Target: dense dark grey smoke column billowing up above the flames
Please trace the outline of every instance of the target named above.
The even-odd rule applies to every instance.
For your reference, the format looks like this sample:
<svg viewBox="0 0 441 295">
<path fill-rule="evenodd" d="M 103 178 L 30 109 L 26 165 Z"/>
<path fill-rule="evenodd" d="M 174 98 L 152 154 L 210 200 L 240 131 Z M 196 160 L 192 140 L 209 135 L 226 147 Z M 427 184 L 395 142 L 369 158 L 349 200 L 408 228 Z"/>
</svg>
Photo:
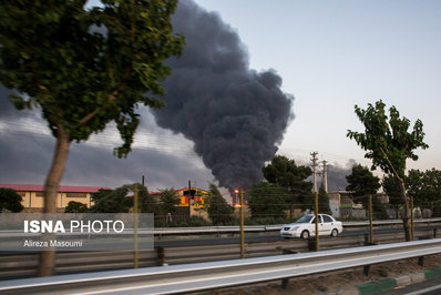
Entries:
<svg viewBox="0 0 441 295">
<path fill-rule="evenodd" d="M 216 13 L 181 1 L 173 23 L 186 47 L 170 61 L 157 124 L 192 140 L 219 185 L 248 189 L 263 180 L 261 167 L 293 119 L 294 98 L 274 71 L 248 68 L 237 33 Z"/>
</svg>

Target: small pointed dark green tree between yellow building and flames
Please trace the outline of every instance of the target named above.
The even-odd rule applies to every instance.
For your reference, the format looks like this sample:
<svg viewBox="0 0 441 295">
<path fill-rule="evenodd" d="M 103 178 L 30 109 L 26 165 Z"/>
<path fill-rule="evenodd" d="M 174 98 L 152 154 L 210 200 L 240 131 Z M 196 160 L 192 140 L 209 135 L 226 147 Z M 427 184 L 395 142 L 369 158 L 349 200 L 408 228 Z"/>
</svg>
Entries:
<svg viewBox="0 0 441 295">
<path fill-rule="evenodd" d="M 208 217 L 214 225 L 225 225 L 233 221 L 234 207 L 222 196 L 215 184 L 209 183 L 209 195 L 206 199 Z"/>
</svg>

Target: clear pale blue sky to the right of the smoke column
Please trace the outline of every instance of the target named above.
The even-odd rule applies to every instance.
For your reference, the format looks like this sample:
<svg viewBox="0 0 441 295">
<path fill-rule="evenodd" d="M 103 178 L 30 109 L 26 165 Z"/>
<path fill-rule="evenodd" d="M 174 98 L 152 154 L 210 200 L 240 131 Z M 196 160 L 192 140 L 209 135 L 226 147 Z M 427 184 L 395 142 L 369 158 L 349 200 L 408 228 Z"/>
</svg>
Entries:
<svg viewBox="0 0 441 295">
<path fill-rule="evenodd" d="M 237 30 L 250 68 L 273 68 L 296 98 L 279 153 L 369 164 L 346 138 L 353 105 L 382 99 L 424 124 L 430 149 L 409 167 L 441 169 L 441 1 L 197 0 Z"/>
</svg>

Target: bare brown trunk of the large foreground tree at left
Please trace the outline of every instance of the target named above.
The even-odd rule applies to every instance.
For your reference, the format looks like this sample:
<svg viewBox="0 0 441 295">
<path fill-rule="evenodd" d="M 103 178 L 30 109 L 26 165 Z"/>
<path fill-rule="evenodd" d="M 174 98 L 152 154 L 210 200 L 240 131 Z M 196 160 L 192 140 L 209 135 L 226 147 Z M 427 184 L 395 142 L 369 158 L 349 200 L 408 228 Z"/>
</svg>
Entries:
<svg viewBox="0 0 441 295">
<path fill-rule="evenodd" d="M 68 161 L 70 143 L 71 141 L 69 134 L 66 134 L 64 129 L 59 125 L 57 133 L 55 153 L 52 159 L 51 169 L 49 170 L 44 183 L 44 213 L 57 213 L 57 194 L 59 184 L 63 176 L 65 162 Z M 51 236 L 47 235 L 43 238 L 50 240 Z M 54 273 L 54 268 L 55 251 L 42 251 L 40 253 L 38 276 L 51 276 Z"/>
</svg>

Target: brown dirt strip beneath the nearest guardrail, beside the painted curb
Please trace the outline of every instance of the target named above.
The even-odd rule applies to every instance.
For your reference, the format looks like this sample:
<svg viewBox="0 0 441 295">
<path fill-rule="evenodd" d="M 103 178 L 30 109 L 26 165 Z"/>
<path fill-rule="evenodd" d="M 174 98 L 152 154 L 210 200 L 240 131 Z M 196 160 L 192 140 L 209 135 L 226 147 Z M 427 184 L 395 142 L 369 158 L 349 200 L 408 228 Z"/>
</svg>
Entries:
<svg viewBox="0 0 441 295">
<path fill-rule="evenodd" d="M 363 283 L 394 278 L 400 275 L 418 273 L 423 269 L 432 269 L 441 266 L 441 255 L 424 257 L 424 265 L 418 265 L 418 258 L 398 261 L 372 265 L 369 276 L 363 274 L 362 267 L 348 268 L 346 271 L 324 273 L 307 277 L 290 278 L 286 289 L 281 288 L 281 281 L 267 282 L 234 288 L 203 292 L 198 294 L 216 295 L 245 295 L 245 294 L 326 294 L 338 289 L 357 286 Z"/>
</svg>

